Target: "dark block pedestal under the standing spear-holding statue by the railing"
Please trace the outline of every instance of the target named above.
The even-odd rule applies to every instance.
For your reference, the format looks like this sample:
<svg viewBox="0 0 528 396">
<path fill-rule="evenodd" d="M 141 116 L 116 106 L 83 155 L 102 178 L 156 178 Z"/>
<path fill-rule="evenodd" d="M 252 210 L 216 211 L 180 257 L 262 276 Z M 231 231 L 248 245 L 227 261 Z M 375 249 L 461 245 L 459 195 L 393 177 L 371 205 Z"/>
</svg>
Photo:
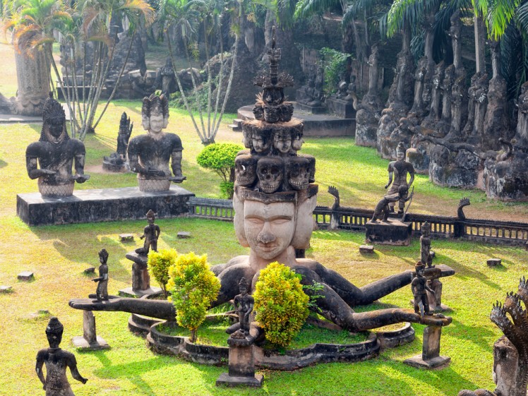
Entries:
<svg viewBox="0 0 528 396">
<path fill-rule="evenodd" d="M 378 220 L 366 223 L 366 242 L 368 244 L 408 246 L 411 241 L 412 224 L 399 219 Z"/>
</svg>

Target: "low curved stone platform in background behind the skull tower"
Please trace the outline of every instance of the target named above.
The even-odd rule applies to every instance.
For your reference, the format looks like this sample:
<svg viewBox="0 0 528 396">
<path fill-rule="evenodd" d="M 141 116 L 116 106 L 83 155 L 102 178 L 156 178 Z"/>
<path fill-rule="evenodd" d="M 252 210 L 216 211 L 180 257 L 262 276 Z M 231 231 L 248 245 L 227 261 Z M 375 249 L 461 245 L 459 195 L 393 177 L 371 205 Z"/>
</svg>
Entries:
<svg viewBox="0 0 528 396">
<path fill-rule="evenodd" d="M 356 119 L 342 119 L 330 114 L 310 114 L 302 112 L 294 103 L 294 118 L 301 119 L 304 124 L 304 136 L 355 136 Z M 255 119 L 253 106 L 241 107 L 237 118 Z"/>
</svg>

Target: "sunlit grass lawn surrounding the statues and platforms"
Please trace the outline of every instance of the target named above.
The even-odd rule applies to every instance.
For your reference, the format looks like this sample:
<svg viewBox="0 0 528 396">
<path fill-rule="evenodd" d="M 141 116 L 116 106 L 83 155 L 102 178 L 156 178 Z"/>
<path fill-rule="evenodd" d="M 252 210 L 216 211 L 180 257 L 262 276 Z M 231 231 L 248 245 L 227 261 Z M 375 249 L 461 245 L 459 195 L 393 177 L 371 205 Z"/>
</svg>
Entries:
<svg viewBox="0 0 528 396">
<path fill-rule="evenodd" d="M 12 51 L 11 48 L 8 48 Z M 4 75 L 0 91 L 13 95 L 13 67 L 9 54 L 0 44 L 4 60 Z M 12 56 L 11 56 L 12 57 Z M 6 80 L 4 76 L 11 76 Z M 5 90 L 4 90 L 5 89 Z M 97 133 L 88 136 L 87 173 L 92 178 L 76 188 L 109 188 L 135 186 L 133 174 L 103 174 L 102 157 L 116 148 L 116 135 L 121 112 L 126 111 L 134 122 L 134 136 L 140 128 L 140 102 L 116 101 L 109 107 Z M 220 142 L 241 140 L 227 124 L 226 116 L 217 137 Z M 220 178 L 196 164 L 202 149 L 184 112 L 171 110 L 168 131 L 176 132 L 184 143 L 184 188 L 197 196 L 217 198 Z M 28 227 L 16 216 L 16 194 L 37 191 L 36 181 L 25 171 L 25 148 L 40 133 L 39 125 L 0 125 L 3 144 L 0 146 L 0 284 L 13 286 L 10 294 L 0 294 L 2 323 L 0 337 L 4 340 L 0 376 L 0 395 L 42 395 L 35 374 L 37 350 L 47 347 L 44 334 L 49 316 L 58 316 L 64 323 L 62 347 L 76 352 L 69 342 L 83 332 L 80 311 L 68 307 L 68 300 L 95 292 L 95 284 L 83 270 L 97 266 L 97 252 L 109 251 L 109 292 L 131 284 L 131 262 L 125 254 L 140 245 L 140 241 L 121 244 L 118 234 L 138 234 L 145 221 L 70 224 L 54 227 Z M 356 148 L 351 138 L 307 138 L 303 150 L 317 158 L 316 179 L 320 184 L 318 203 L 331 205 L 328 185 L 340 189 L 342 205 L 373 207 L 383 195 L 388 161 L 377 157 L 374 150 Z M 528 204 L 504 204 L 488 200 L 481 191 L 461 191 L 440 188 L 425 176 L 416 178 L 416 196 L 412 211 L 454 215 L 457 201 L 469 196 L 472 205 L 468 217 L 500 218 L 528 221 Z M 246 254 L 236 241 L 229 222 L 193 218 L 159 220 L 162 234 L 159 248 L 176 248 L 180 253 L 208 253 L 211 264 L 224 263 L 229 258 Z M 191 232 L 191 239 L 177 239 L 179 231 Z M 373 255 L 359 253 L 364 234 L 317 231 L 311 239 L 307 256 L 318 260 L 346 277 L 357 286 L 381 277 L 413 268 L 419 258 L 419 243 L 410 246 L 376 246 Z M 263 388 L 258 390 L 215 387 L 215 380 L 226 367 L 203 366 L 152 353 L 145 340 L 127 330 L 127 313 L 95 313 L 97 333 L 112 349 L 100 352 L 76 352 L 78 368 L 89 378 L 82 385 L 71 380 L 77 396 L 154 396 L 154 395 L 369 395 L 369 396 L 452 396 L 461 389 L 493 390 L 491 368 L 493 342 L 501 335 L 489 320 L 491 304 L 503 301 L 505 292 L 516 290 L 519 277 L 528 275 L 528 253 L 522 248 L 474 244 L 468 241 L 433 240 L 435 263 L 450 265 L 456 275 L 443 280 L 443 303 L 453 308 L 452 325 L 443 330 L 441 354 L 452 363 L 441 371 L 423 371 L 403 364 L 404 359 L 421 352 L 424 326 L 414 325 L 416 340 L 411 344 L 382 352 L 376 359 L 356 364 L 320 364 L 294 372 L 261 371 L 265 375 Z M 487 258 L 502 258 L 503 265 L 488 268 Z M 35 281 L 16 280 L 23 270 L 35 272 Z M 402 306 L 410 308 L 410 287 L 405 287 L 368 308 Z M 363 308 L 359 307 L 357 310 Z M 38 314 L 47 310 L 49 314 Z M 37 313 L 37 315 L 34 315 Z M 319 336 L 316 336 L 319 337 Z M 69 377 L 69 374 L 68 374 Z M 71 378 L 71 377 L 70 377 Z"/>
</svg>

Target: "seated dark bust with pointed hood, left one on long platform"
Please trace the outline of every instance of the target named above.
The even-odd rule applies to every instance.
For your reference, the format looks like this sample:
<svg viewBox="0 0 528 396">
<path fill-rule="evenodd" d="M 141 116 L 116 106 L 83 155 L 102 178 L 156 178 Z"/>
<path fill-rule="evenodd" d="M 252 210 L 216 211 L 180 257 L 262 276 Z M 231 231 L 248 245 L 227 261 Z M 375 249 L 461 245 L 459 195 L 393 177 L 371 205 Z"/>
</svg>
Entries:
<svg viewBox="0 0 528 396">
<path fill-rule="evenodd" d="M 38 179 L 43 197 L 64 197 L 73 194 L 75 182 L 84 183 L 85 147 L 66 131 L 66 114 L 61 104 L 49 97 L 42 109 L 42 131 L 38 142 L 25 150 L 25 164 L 30 179 Z M 74 164 L 75 162 L 75 164 Z M 72 165 L 75 174 L 72 175 Z"/>
</svg>

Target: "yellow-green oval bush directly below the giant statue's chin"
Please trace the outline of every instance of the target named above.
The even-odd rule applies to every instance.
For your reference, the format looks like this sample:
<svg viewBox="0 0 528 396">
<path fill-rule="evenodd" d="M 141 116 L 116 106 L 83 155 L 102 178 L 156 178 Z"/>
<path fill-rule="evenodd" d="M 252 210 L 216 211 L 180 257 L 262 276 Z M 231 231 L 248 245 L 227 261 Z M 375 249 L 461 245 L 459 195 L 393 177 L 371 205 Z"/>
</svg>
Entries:
<svg viewBox="0 0 528 396">
<path fill-rule="evenodd" d="M 256 320 L 266 340 L 287 347 L 308 317 L 308 296 L 297 275 L 286 265 L 271 263 L 260 271 L 256 283 Z"/>
</svg>

